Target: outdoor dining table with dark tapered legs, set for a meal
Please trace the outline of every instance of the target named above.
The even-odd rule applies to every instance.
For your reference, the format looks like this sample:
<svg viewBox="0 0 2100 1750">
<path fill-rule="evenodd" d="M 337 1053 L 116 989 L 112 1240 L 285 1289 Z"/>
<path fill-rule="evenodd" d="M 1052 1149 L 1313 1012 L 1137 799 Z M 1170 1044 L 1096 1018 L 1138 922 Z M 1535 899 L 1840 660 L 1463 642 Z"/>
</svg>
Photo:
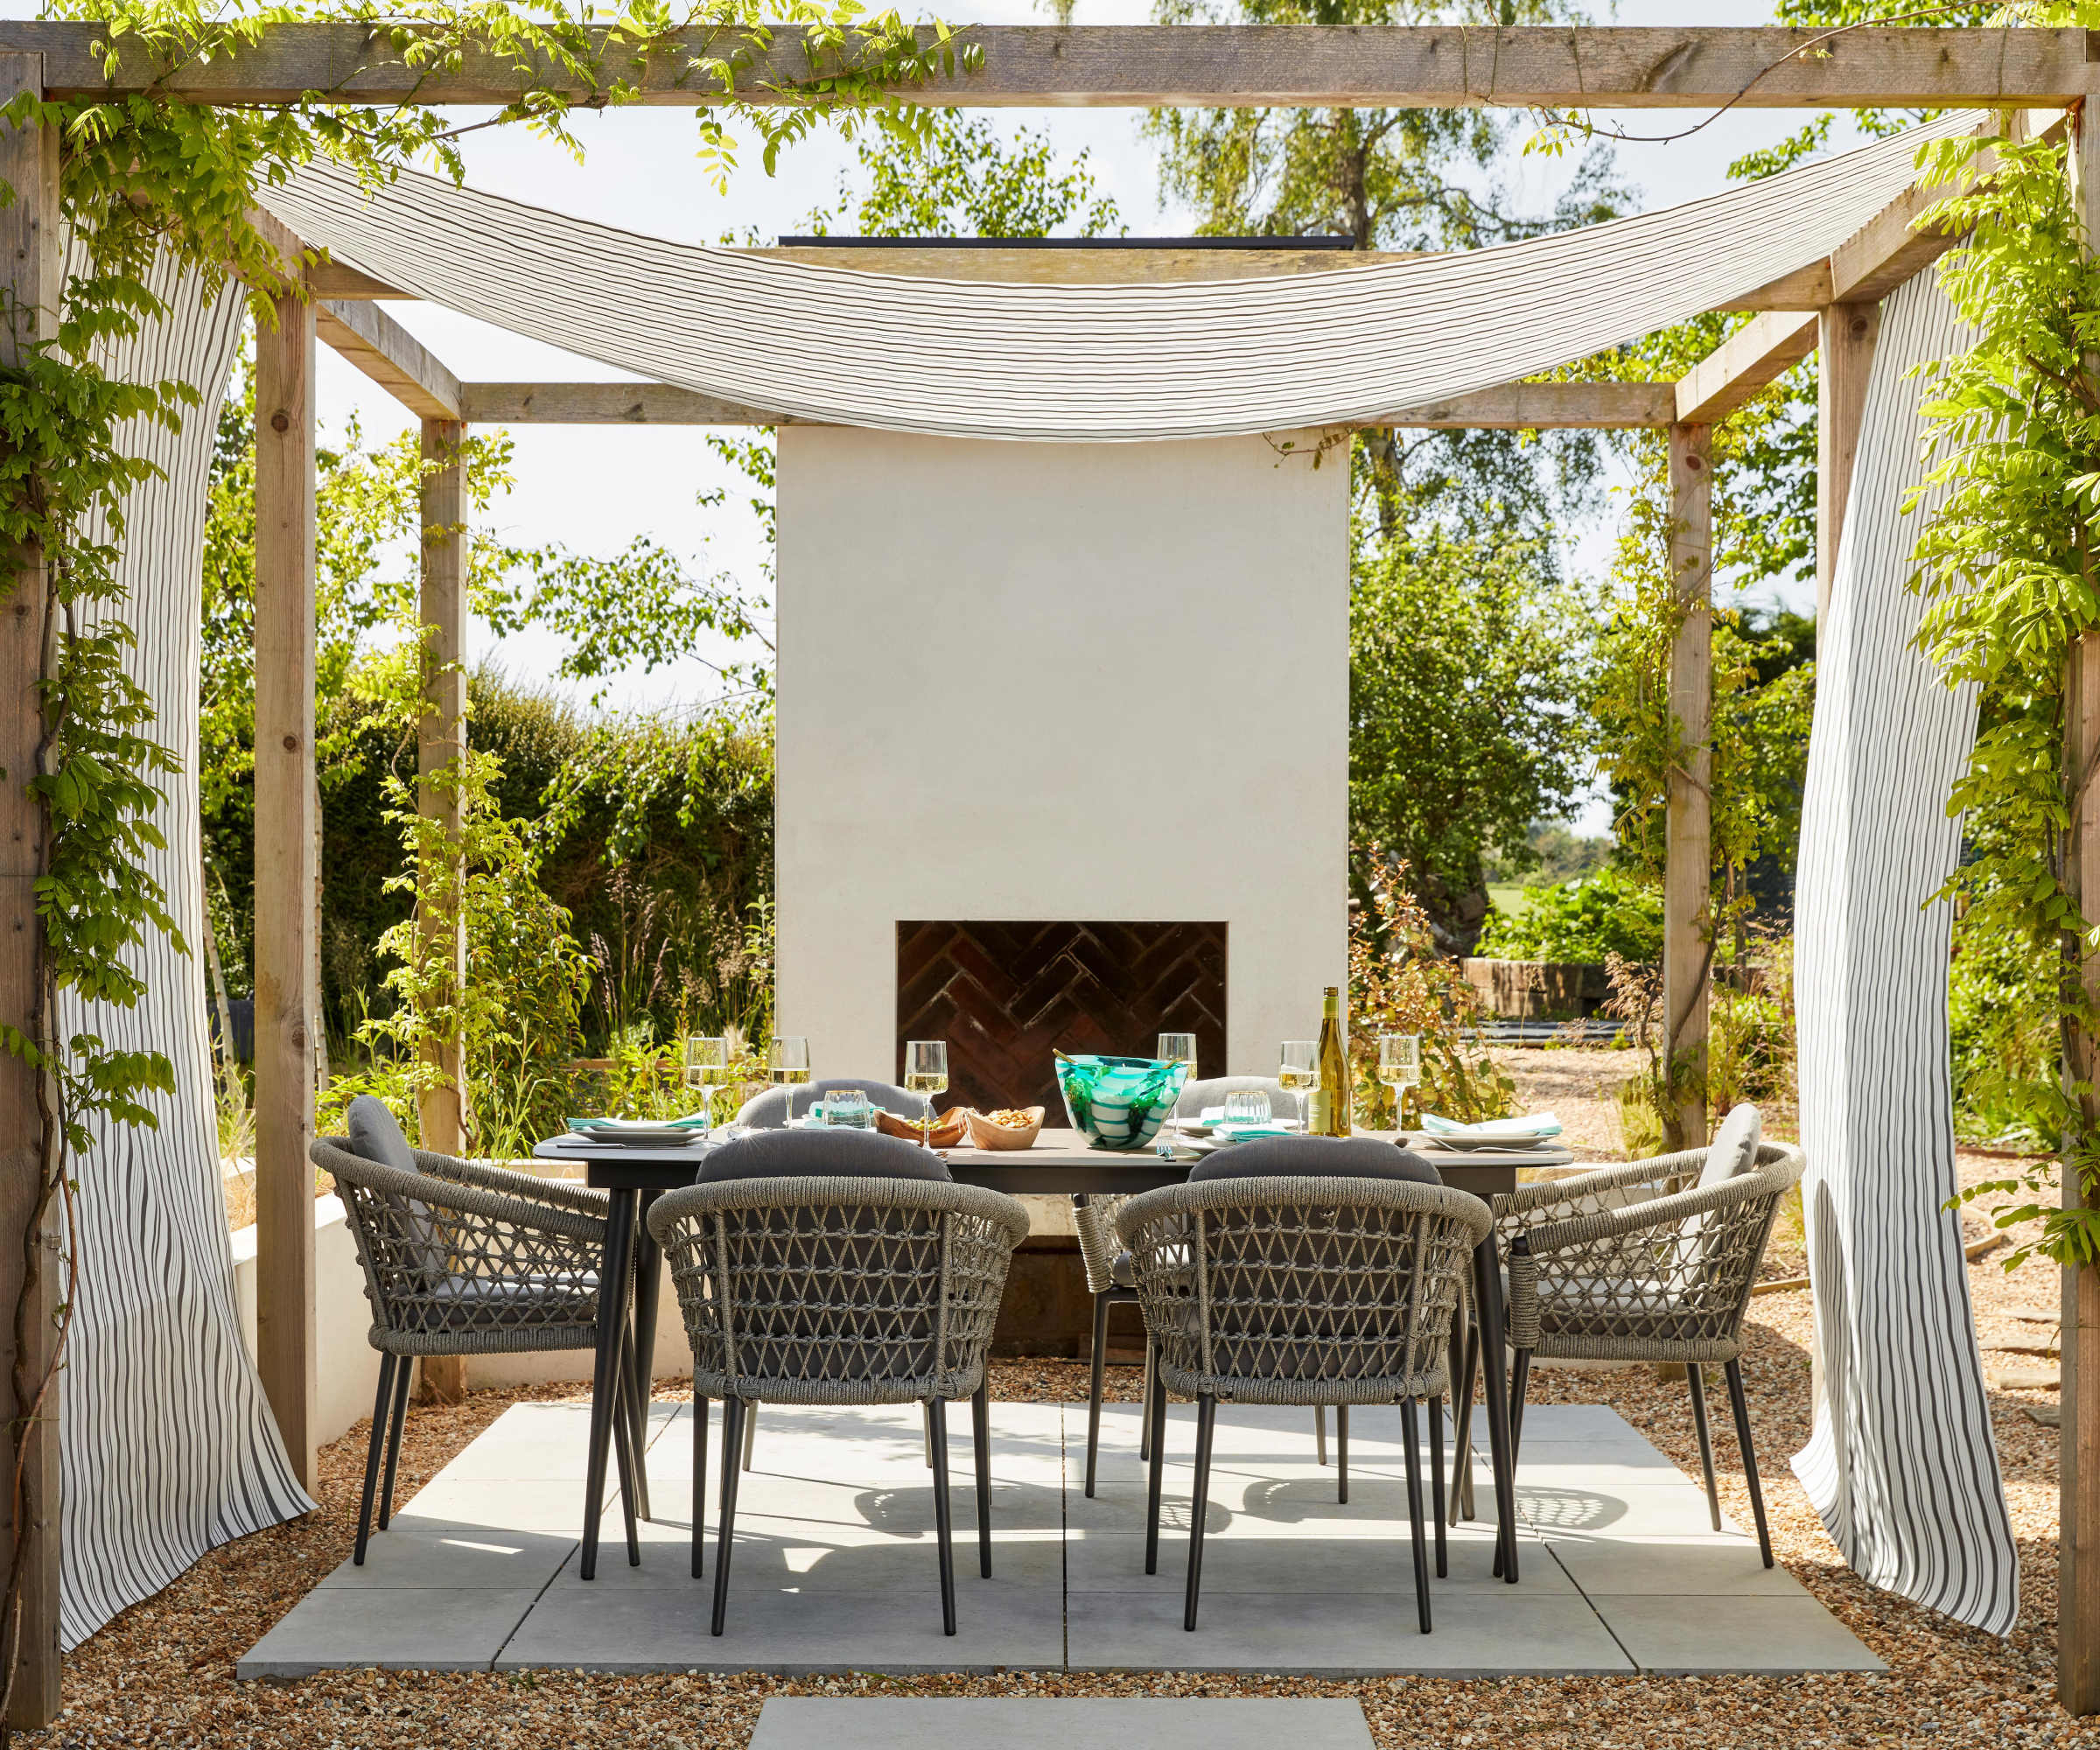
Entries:
<svg viewBox="0 0 2100 1750">
<path fill-rule="evenodd" d="M 1573 1160 L 1567 1149 L 1522 1149 L 1522 1151 L 1468 1151 L 1445 1149 L 1420 1132 L 1401 1134 L 1392 1130 L 1367 1130 L 1359 1134 L 1384 1137 L 1420 1149 L 1436 1162 L 1443 1183 L 1457 1191 L 1472 1191 L 1480 1200 L 1516 1189 L 1516 1174 L 1522 1168 L 1564 1166 Z M 649 1414 L 649 1376 L 655 1353 L 657 1286 L 664 1269 L 664 1252 L 649 1235 L 649 1204 L 664 1191 L 691 1185 L 706 1162 L 714 1141 L 687 1143 L 676 1147 L 630 1147 L 626 1143 L 598 1143 L 578 1134 L 550 1137 L 533 1149 L 538 1160 L 569 1162 L 584 1168 L 584 1183 L 607 1193 L 605 1254 L 598 1267 L 598 1349 L 590 1380 L 590 1460 L 584 1483 L 584 1548 L 580 1574 L 584 1580 L 596 1578 L 598 1569 L 598 1523 L 605 1511 L 605 1471 L 613 1433 L 613 1403 L 617 1368 L 622 1361 L 622 1338 L 628 1328 L 626 1286 L 634 1292 L 634 1391 L 628 1401 L 634 1405 L 634 1468 L 643 1471 L 643 1420 Z M 960 1185 L 985 1185 L 1008 1195 L 1075 1195 L 1075 1197 L 1128 1197 L 1138 1191 L 1157 1191 L 1161 1185 L 1180 1185 L 1189 1179 L 1195 1160 L 1168 1160 L 1155 1149 L 1111 1151 L 1092 1149 L 1077 1130 L 1042 1130 L 1027 1149 L 976 1149 L 951 1147 L 941 1151 L 947 1160 L 949 1176 Z M 607 1292 L 607 1284 L 620 1284 Z M 1502 1578 L 1516 1582 L 1516 1487 L 1510 1454 L 1510 1405 L 1508 1387 L 1502 1372 L 1502 1256 L 1495 1248 L 1493 1229 L 1472 1254 L 1474 1307 L 1480 1319 L 1480 1357 L 1487 1384 L 1487 1439 L 1495 1471 L 1495 1521 L 1502 1536 Z M 1493 1336 L 1491 1336 L 1493 1334 Z M 1457 1366 L 1457 1330 L 1453 1328 L 1451 1391 L 1462 1389 Z M 1470 1412 L 1455 1405 L 1455 1414 Z M 1466 1439 L 1460 1431 L 1460 1452 Z M 649 1517 L 647 1481 L 636 1475 L 636 1511 Z"/>
</svg>

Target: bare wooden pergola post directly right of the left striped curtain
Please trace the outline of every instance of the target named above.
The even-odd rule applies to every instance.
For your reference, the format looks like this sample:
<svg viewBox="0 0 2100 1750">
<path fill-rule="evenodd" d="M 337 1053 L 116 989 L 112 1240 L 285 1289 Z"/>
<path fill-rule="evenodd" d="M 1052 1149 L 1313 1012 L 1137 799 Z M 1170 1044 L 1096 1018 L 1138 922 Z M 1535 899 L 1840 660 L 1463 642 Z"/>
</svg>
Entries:
<svg viewBox="0 0 2100 1750">
<path fill-rule="evenodd" d="M 313 303 L 256 324 L 256 1366 L 315 1487 Z"/>
</svg>

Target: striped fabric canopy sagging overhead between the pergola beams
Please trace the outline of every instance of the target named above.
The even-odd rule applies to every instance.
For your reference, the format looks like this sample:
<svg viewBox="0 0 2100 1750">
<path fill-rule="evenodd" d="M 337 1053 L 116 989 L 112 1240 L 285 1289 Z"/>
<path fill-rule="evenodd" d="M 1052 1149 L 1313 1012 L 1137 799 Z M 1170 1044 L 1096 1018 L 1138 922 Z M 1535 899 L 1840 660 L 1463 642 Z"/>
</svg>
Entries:
<svg viewBox="0 0 2100 1750">
<path fill-rule="evenodd" d="M 1130 441 L 1378 422 L 1571 363 L 1827 256 L 1928 128 L 1527 244 L 1273 279 L 1023 286 L 697 248 L 334 164 L 265 204 L 403 292 L 766 412 L 941 437 Z"/>
</svg>

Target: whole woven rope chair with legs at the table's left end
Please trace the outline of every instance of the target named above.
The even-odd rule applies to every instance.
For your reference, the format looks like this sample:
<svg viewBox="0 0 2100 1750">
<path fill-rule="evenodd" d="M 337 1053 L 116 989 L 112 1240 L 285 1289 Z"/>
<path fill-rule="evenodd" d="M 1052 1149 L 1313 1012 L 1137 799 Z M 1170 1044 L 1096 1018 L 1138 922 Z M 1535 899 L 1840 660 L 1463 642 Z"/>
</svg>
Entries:
<svg viewBox="0 0 2100 1750">
<path fill-rule="evenodd" d="M 403 1172 L 353 1153 L 344 1137 L 317 1139 L 311 1158 L 334 1176 L 342 1197 L 357 1261 L 365 1269 L 370 1340 L 380 1351 L 353 1553 L 353 1563 L 363 1565 L 382 1445 L 382 1532 L 393 1517 L 401 1422 L 416 1357 L 596 1347 L 605 1193 L 422 1149 L 414 1151 L 416 1170 Z M 622 1397 L 628 1372 L 620 1370 Z M 624 1405 L 613 1408 L 613 1452 L 628 1561 L 640 1563 L 634 1450 Z"/>
</svg>

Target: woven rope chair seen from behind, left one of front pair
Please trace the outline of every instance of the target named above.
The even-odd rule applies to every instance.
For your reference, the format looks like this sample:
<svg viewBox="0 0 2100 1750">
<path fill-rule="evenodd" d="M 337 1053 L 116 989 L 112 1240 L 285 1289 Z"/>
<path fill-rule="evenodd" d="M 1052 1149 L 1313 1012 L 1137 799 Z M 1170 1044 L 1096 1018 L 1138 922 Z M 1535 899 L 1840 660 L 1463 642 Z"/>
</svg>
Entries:
<svg viewBox="0 0 2100 1750">
<path fill-rule="evenodd" d="M 743 1416 L 754 1403 L 924 1403 L 932 1445 L 941 1630 L 956 1632 L 947 1403 L 972 1399 L 976 1550 L 991 1576 L 985 1351 L 1006 1267 L 1029 1235 L 1018 1202 L 928 1179 L 729 1179 L 657 1197 L 693 1342 L 693 1578 L 701 1574 L 708 1399 L 722 1399 L 722 1523 L 712 1632 L 729 1607 Z"/>
</svg>

